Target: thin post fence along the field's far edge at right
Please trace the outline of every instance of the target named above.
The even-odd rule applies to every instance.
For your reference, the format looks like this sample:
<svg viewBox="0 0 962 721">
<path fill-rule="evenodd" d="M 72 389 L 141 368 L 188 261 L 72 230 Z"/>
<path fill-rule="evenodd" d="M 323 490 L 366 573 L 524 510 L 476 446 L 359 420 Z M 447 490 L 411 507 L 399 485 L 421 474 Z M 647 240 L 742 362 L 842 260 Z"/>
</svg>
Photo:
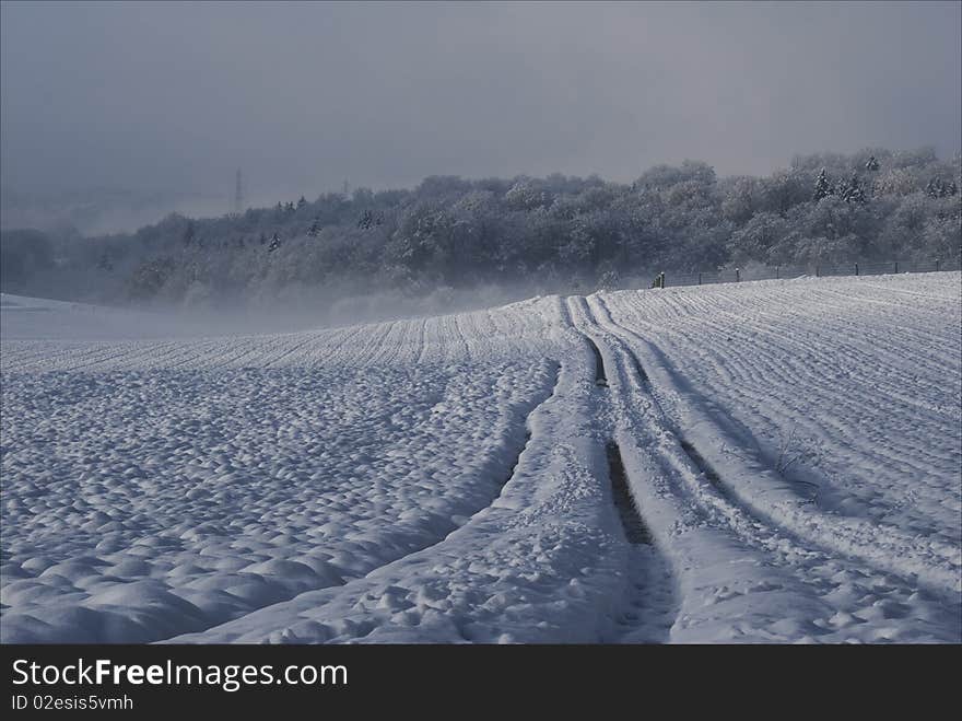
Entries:
<svg viewBox="0 0 962 721">
<path fill-rule="evenodd" d="M 778 280 L 814 276 L 828 278 L 836 276 L 883 276 L 900 272 L 940 272 L 962 270 L 962 259 L 887 263 L 848 263 L 844 265 L 814 266 L 751 266 L 731 270 L 703 270 L 701 272 L 661 272 L 652 283 L 653 288 L 672 286 L 712 286 L 715 283 L 737 283 L 747 280 Z M 660 279 L 660 284 L 659 284 Z"/>
</svg>

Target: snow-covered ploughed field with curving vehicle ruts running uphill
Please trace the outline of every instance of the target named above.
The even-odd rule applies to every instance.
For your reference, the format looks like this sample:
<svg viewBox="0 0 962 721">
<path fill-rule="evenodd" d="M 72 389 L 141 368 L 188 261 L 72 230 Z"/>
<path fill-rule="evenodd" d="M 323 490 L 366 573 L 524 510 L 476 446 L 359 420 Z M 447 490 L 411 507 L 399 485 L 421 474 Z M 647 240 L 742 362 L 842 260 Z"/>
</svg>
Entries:
<svg viewBox="0 0 962 721">
<path fill-rule="evenodd" d="M 179 338 L 3 295 L 2 640 L 960 642 L 960 289 Z"/>
</svg>

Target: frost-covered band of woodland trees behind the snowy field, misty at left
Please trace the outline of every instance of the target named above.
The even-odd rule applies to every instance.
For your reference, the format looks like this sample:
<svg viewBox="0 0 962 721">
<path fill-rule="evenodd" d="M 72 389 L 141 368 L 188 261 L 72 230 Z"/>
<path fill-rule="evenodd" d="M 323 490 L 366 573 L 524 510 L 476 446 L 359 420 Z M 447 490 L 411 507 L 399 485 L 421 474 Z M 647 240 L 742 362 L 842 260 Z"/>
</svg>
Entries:
<svg viewBox="0 0 962 721">
<path fill-rule="evenodd" d="M 632 183 L 432 176 L 221 218 L 171 214 L 133 233 L 4 231 L 0 280 L 8 292 L 196 304 L 482 284 L 539 293 L 752 263 L 949 263 L 962 252 L 960 185 L 958 153 L 880 148 L 799 155 L 762 177 L 719 178 L 695 161 Z"/>
</svg>

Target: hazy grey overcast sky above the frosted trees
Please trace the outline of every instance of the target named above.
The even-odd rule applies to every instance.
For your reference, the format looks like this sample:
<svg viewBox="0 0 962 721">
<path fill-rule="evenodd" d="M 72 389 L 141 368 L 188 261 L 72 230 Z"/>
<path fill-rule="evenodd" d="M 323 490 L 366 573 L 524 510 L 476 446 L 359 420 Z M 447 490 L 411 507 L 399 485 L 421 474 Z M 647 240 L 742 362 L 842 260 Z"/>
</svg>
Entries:
<svg viewBox="0 0 962 721">
<path fill-rule="evenodd" d="M 959 2 L 4 2 L 4 189 L 630 181 L 962 141 Z"/>
</svg>

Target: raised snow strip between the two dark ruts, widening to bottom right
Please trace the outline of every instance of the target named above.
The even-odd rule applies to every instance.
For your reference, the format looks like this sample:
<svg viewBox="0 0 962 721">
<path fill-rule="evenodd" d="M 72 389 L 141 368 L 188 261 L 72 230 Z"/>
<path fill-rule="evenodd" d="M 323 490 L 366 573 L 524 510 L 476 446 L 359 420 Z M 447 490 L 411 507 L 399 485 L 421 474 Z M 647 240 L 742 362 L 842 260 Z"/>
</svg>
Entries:
<svg viewBox="0 0 962 721">
<path fill-rule="evenodd" d="M 597 299 L 589 302 L 597 309 Z M 603 309 L 597 310 L 603 315 Z M 765 515 L 752 513 L 751 508 L 738 502 L 738 496 L 712 484 L 682 449 L 681 439 L 641 374 L 634 373 L 641 363 L 630 358 L 629 345 L 606 329 L 605 323 L 596 325 L 589 309 L 583 311 L 580 323 L 586 333 L 596 336 L 602 354 L 614 362 L 610 402 L 619 444 L 630 452 L 625 465 L 631 488 L 635 498 L 641 493 L 646 499 L 643 502 L 653 504 L 653 518 L 657 520 L 654 535 L 665 544 L 666 556 L 684 590 L 680 615 L 670 631 L 672 640 L 687 639 L 692 618 L 699 619 L 696 626 L 725 618 L 735 636 L 726 629 L 718 637 L 724 639 L 743 638 L 743 632 L 760 640 L 784 640 L 786 636 L 791 640 L 805 637 L 872 642 L 958 639 L 958 603 L 946 603 L 940 594 L 931 593 L 934 589 L 919 593 L 913 577 L 906 582 L 871 565 L 866 568 L 861 559 L 853 563 L 850 557 L 834 548 L 812 544 Z M 693 544 L 685 540 L 687 536 L 701 540 Z M 739 569 L 747 568 L 764 571 L 742 577 Z M 697 592 L 689 595 L 692 589 Z M 794 609 L 791 616 L 772 618 L 771 612 L 764 610 L 771 602 L 755 605 L 758 602 L 751 601 L 754 594 L 784 598 L 782 603 L 789 603 Z M 734 605 L 731 610 L 722 612 L 715 605 L 719 603 Z M 762 613 L 754 613 L 755 608 Z M 706 613 L 708 619 L 701 618 Z M 917 621 L 901 630 L 891 625 L 908 617 Z M 858 626 L 867 620 L 875 623 Z"/>
</svg>

